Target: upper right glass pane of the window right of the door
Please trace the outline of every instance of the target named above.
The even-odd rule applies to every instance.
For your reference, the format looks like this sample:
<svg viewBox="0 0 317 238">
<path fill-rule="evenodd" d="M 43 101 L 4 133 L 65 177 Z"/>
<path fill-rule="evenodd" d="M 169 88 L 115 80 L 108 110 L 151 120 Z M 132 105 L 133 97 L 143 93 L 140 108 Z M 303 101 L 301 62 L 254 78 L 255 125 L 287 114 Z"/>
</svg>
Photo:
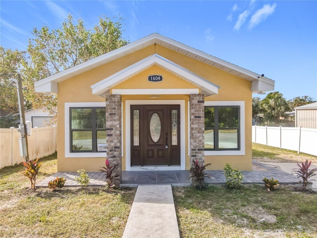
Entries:
<svg viewBox="0 0 317 238">
<path fill-rule="evenodd" d="M 219 127 L 238 127 L 238 108 L 218 108 L 218 126 Z"/>
</svg>

